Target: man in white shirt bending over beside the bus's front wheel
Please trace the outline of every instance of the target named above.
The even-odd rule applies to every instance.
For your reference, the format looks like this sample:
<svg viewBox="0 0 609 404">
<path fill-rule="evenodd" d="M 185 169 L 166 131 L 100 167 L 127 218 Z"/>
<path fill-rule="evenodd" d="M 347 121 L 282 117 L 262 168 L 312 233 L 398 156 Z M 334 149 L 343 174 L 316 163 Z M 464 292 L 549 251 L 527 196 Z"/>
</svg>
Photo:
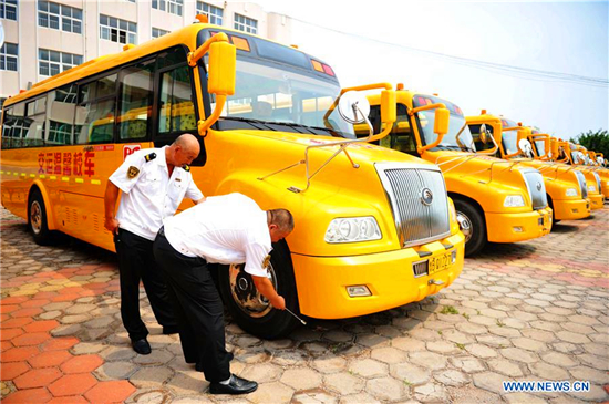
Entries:
<svg viewBox="0 0 609 404">
<path fill-rule="evenodd" d="M 207 263 L 242 263 L 273 308 L 286 309 L 267 277 L 271 242 L 288 236 L 293 218 L 286 209 L 261 210 L 241 194 L 209 197 L 167 218 L 154 241 L 154 256 L 169 286 L 184 358 L 197 363 L 211 394 L 244 394 L 258 387 L 230 374 L 225 348 L 224 308 Z"/>
</svg>

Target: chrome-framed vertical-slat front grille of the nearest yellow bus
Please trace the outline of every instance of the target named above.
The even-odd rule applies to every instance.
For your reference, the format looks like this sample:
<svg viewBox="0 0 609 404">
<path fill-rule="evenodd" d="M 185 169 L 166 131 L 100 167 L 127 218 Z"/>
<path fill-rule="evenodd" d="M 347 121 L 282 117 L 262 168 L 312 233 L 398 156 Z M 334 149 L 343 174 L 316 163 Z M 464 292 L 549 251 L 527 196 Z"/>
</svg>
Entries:
<svg viewBox="0 0 609 404">
<path fill-rule="evenodd" d="M 379 163 L 375 168 L 403 248 L 435 241 L 451 234 L 446 184 L 440 168 L 399 163 Z M 421 198 L 425 188 L 434 196 L 430 205 Z"/>
</svg>

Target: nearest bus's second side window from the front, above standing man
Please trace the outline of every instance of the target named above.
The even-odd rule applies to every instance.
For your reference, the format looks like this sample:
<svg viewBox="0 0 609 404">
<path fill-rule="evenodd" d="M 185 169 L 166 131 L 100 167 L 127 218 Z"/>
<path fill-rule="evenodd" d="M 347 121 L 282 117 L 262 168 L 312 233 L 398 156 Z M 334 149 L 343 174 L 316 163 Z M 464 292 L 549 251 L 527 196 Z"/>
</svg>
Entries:
<svg viewBox="0 0 609 404">
<path fill-rule="evenodd" d="M 152 118 L 155 61 L 142 62 L 125 69 L 121 75 L 121 114 L 118 138 L 142 139 L 147 136 Z"/>
</svg>

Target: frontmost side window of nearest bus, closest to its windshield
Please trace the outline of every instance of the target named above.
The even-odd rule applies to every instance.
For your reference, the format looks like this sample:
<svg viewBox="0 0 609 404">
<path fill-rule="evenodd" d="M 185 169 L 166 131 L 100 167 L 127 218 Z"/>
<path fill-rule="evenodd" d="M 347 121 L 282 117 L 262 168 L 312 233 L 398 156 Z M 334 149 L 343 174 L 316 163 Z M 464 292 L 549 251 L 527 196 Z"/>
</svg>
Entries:
<svg viewBox="0 0 609 404">
<path fill-rule="evenodd" d="M 190 75 L 186 65 L 161 75 L 159 106 L 158 134 L 196 130 Z"/>
</svg>

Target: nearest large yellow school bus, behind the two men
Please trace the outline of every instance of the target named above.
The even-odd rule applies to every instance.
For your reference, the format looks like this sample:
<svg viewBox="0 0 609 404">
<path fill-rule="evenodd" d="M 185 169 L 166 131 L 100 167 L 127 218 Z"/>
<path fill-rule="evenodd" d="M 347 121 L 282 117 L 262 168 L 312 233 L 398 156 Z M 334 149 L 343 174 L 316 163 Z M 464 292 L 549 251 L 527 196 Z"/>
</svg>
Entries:
<svg viewBox="0 0 609 404">
<path fill-rule="evenodd" d="M 391 85 L 367 89 L 383 90 L 391 125 Z M 107 177 L 134 151 L 195 133 L 192 173 L 205 195 L 238 191 L 293 214 L 296 229 L 273 246 L 269 267 L 290 310 L 337 319 L 422 300 L 463 268 L 444 178 L 433 164 L 367 143 L 386 131 L 358 139 L 348 90 L 320 59 L 202 19 L 7 100 L 1 201 L 39 242 L 62 231 L 113 250 Z M 245 330 L 278 338 L 295 327 L 240 266 L 218 277 Z"/>
</svg>

